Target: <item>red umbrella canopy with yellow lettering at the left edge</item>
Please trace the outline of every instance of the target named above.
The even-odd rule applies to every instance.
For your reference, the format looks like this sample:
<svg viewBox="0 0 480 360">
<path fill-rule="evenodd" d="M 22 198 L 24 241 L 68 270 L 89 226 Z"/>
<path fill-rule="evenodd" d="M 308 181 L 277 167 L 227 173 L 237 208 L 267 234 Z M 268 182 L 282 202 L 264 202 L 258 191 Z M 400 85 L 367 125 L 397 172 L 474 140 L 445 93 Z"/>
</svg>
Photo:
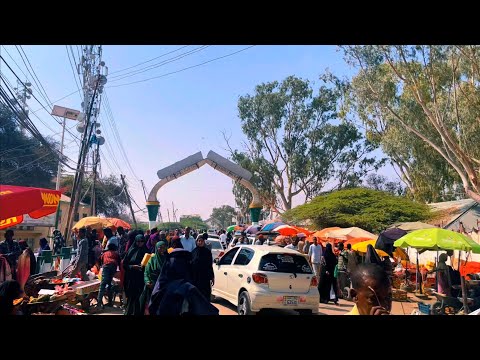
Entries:
<svg viewBox="0 0 480 360">
<path fill-rule="evenodd" d="M 20 224 L 24 214 L 39 219 L 55 213 L 60 196 L 57 190 L 0 185 L 0 229 Z"/>
</svg>

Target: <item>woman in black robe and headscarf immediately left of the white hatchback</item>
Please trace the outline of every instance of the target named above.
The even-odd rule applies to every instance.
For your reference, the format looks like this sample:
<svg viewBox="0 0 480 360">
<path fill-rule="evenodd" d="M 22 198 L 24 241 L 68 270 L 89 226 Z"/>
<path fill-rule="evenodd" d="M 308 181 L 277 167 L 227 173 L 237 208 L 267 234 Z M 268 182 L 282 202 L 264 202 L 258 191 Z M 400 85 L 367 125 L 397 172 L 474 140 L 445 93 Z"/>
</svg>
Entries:
<svg viewBox="0 0 480 360">
<path fill-rule="evenodd" d="M 210 301 L 214 282 L 212 252 L 205 246 L 202 234 L 197 237 L 197 247 L 192 251 L 193 281 L 198 290 Z"/>
</svg>

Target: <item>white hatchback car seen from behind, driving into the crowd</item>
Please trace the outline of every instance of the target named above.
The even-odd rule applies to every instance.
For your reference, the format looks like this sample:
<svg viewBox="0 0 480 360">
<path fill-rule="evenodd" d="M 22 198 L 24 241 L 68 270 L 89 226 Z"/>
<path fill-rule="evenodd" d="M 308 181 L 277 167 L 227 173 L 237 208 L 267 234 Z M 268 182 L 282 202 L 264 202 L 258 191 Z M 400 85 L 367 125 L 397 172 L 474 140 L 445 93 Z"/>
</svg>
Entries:
<svg viewBox="0 0 480 360">
<path fill-rule="evenodd" d="M 266 308 L 318 313 L 317 278 L 306 257 L 295 250 L 240 245 L 214 263 L 212 295 L 237 306 L 239 315 Z"/>
</svg>

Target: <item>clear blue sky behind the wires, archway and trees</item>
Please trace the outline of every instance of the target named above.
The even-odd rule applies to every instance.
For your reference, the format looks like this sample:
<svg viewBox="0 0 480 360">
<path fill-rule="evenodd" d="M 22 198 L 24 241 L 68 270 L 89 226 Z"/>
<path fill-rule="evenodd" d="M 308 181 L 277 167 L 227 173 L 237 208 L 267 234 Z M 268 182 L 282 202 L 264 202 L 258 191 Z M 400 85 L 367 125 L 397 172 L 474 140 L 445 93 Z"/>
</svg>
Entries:
<svg viewBox="0 0 480 360">
<path fill-rule="evenodd" d="M 335 46 L 259 45 L 183 72 L 137 84 L 118 86 L 181 70 L 247 47 L 214 45 L 158 68 L 115 81 L 114 76 L 121 73 L 114 72 L 180 47 L 180 45 L 103 46 L 103 60 L 111 74 L 106 85 L 106 93 L 116 128 L 121 136 L 121 144 L 135 176 L 126 165 L 120 146 L 113 138 L 113 130 L 110 122 L 107 121 L 104 109 L 101 110 L 100 122 L 108 146 L 102 147 L 102 153 L 106 157 L 106 160 L 102 158 L 102 174 L 118 175 L 120 171 L 125 174 L 132 196 L 141 208 L 145 205 L 145 198 L 139 179 L 144 180 L 149 191 L 158 181 L 157 170 L 197 151 L 202 151 L 204 156 L 209 150 L 227 156 L 221 131 L 232 134 L 231 145 L 240 148 L 244 137 L 237 116 L 238 97 L 253 93 L 257 84 L 283 80 L 289 75 L 318 82 L 319 74 L 327 68 L 338 76 L 353 73 L 353 70 L 343 61 L 342 53 L 337 51 Z M 191 45 L 123 73 L 195 48 L 198 48 L 198 45 Z M 76 90 L 66 47 L 23 46 L 23 50 L 48 97 L 55 104 L 80 109 L 78 94 L 73 94 L 58 103 L 55 102 Z M 73 47 L 73 50 L 76 54 L 76 47 Z M 17 49 L 10 45 L 2 47 L 1 55 L 24 80 L 25 76 L 13 63 L 7 51 L 18 66 L 29 75 Z M 13 75 L 3 64 L 1 71 L 10 82 L 14 82 Z M 29 80 L 31 80 L 30 76 Z M 44 102 L 35 89 L 35 83 L 33 85 L 34 94 Z M 32 111 L 41 108 L 33 98 L 28 104 Z M 45 136 L 57 133 L 55 138 L 59 140 L 58 133 L 61 126 L 44 110 L 39 110 L 36 114 L 53 131 L 36 117 L 31 117 L 39 130 Z M 72 133 L 79 135 L 74 127 L 75 123 L 70 121 L 68 126 L 73 127 Z M 76 161 L 78 146 L 68 133 L 66 144 L 67 156 Z M 383 169 L 382 173 L 394 177 L 391 168 Z M 164 220 L 168 219 L 167 207 L 170 209 L 172 219 L 172 202 L 178 209 L 177 216 L 200 214 L 204 219 L 209 217 L 213 207 L 224 204 L 234 206 L 235 203 L 231 180 L 208 166 L 165 185 L 159 191 L 158 199 Z M 137 209 L 135 205 L 134 208 Z M 147 219 L 141 212 L 138 212 L 137 216 L 141 220 Z"/>
</svg>

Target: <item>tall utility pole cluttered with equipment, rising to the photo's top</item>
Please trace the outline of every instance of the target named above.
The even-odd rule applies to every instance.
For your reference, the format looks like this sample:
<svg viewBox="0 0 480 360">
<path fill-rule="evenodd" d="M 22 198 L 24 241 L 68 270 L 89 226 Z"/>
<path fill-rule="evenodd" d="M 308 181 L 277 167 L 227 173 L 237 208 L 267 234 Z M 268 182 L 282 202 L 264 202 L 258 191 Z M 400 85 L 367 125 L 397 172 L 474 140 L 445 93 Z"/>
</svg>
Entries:
<svg viewBox="0 0 480 360">
<path fill-rule="evenodd" d="M 85 174 L 85 160 L 93 143 L 96 143 L 94 128 L 97 127 L 97 117 L 100 112 L 100 101 L 103 87 L 107 83 L 108 68 L 102 61 L 101 45 L 86 45 L 82 47 L 82 59 L 78 65 L 78 73 L 83 75 L 83 102 L 82 112 L 85 114 L 85 123 L 77 127 L 83 133 L 80 152 L 78 154 L 77 169 L 72 187 L 72 197 L 67 216 L 67 228 L 65 238 L 73 225 L 75 214 L 78 212 L 80 192 L 82 189 L 83 176 Z M 92 135 L 94 135 L 92 137 Z"/>
</svg>

